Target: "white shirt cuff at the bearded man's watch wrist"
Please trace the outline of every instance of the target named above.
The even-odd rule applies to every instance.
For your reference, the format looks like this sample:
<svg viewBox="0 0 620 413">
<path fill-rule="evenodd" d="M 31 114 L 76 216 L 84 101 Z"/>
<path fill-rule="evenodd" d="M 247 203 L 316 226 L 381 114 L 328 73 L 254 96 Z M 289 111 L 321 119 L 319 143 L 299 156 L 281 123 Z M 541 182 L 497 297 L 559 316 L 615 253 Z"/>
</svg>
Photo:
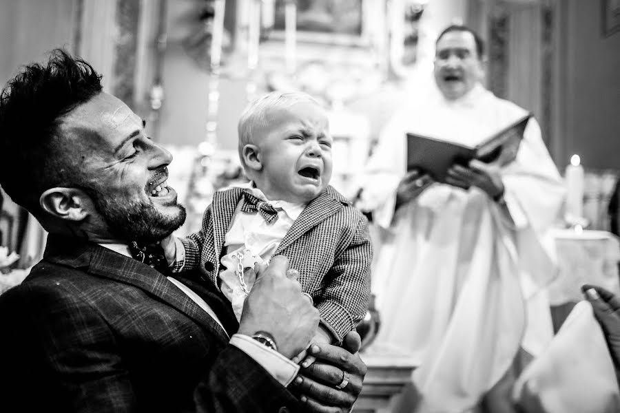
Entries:
<svg viewBox="0 0 620 413">
<path fill-rule="evenodd" d="M 299 372 L 296 363 L 247 335 L 235 334 L 231 337 L 230 343 L 254 359 L 285 387 L 291 384 Z"/>
</svg>

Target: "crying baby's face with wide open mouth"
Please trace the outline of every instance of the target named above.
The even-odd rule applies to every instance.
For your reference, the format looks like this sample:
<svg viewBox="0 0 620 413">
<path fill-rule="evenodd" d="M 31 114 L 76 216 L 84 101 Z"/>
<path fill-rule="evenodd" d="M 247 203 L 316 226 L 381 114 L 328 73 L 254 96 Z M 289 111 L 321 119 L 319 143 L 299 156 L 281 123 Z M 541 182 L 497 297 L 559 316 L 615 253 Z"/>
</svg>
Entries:
<svg viewBox="0 0 620 413">
<path fill-rule="evenodd" d="M 301 102 L 272 110 L 268 117 L 267 127 L 254 137 L 262 162 L 262 191 L 271 200 L 313 200 L 331 179 L 327 114 L 315 103 Z"/>
</svg>

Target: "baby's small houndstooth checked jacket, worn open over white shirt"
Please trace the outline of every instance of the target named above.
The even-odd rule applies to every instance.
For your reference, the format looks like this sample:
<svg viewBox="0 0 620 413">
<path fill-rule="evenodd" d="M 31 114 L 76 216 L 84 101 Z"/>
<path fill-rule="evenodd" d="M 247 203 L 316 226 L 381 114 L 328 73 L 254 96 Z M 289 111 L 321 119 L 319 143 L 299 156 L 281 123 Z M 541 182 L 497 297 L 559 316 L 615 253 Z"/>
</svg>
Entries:
<svg viewBox="0 0 620 413">
<path fill-rule="evenodd" d="M 184 268 L 199 267 L 214 285 L 218 284 L 224 237 L 243 191 L 216 192 L 200 231 L 181 240 Z M 333 187 L 307 205 L 274 255 L 285 255 L 290 268 L 299 271 L 304 293 L 313 297 L 322 324 L 340 341 L 364 318 L 373 257 L 368 221 Z"/>
</svg>

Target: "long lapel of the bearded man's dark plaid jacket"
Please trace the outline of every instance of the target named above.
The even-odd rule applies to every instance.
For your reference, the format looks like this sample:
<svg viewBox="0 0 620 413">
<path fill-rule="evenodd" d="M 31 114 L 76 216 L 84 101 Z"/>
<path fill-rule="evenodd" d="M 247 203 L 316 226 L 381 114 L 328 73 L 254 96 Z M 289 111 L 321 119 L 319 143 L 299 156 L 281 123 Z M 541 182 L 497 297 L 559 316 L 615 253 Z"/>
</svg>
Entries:
<svg viewBox="0 0 620 413">
<path fill-rule="evenodd" d="M 138 260 L 86 240 L 54 235 L 48 237 L 44 258 L 72 268 L 84 268 L 91 275 L 140 288 L 176 308 L 200 326 L 216 331 L 217 337 L 227 341 L 227 333 L 205 310 L 164 275 Z"/>
</svg>

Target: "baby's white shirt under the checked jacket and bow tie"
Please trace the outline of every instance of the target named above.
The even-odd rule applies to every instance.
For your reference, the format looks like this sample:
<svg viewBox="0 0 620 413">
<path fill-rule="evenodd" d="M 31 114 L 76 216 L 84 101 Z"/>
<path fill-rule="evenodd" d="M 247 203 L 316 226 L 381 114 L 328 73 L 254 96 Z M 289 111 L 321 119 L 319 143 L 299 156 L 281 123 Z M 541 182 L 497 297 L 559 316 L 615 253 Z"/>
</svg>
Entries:
<svg viewBox="0 0 620 413">
<path fill-rule="evenodd" d="M 218 278 L 220 289 L 231 302 L 237 320 L 241 318 L 246 292 L 236 272 L 239 262 L 236 254 L 242 253 L 243 255 L 241 260 L 243 268 L 254 268 L 256 262 L 269 262 L 282 239 L 293 226 L 293 222 L 306 207 L 304 203 L 267 200 L 265 194 L 254 187 L 251 182 L 247 185 L 240 185 L 240 187 L 247 188 L 256 198 L 269 202 L 278 211 L 278 218 L 269 224 L 258 211 L 247 213 L 237 208 L 230 228 L 225 235 L 225 253 L 220 260 L 225 269 L 218 273 Z M 255 280 L 254 271 L 244 274 L 245 288 L 248 293 Z"/>
</svg>

